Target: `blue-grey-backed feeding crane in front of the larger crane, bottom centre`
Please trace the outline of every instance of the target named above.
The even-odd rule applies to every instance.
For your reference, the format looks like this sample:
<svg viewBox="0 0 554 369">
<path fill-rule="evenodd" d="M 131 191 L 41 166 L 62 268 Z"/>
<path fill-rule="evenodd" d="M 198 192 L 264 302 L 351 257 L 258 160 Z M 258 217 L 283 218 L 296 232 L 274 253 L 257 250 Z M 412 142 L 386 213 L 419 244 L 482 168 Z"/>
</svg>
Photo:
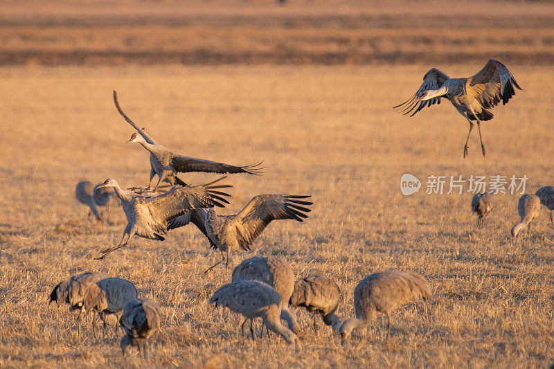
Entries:
<svg viewBox="0 0 554 369">
<path fill-rule="evenodd" d="M 242 314 L 245 318 L 241 325 L 243 336 L 244 323 L 259 316 L 269 330 L 282 336 L 288 343 L 298 343 L 298 336 L 280 322 L 283 304 L 278 292 L 265 283 L 239 280 L 224 285 L 215 291 L 209 302 L 215 303 L 215 307 L 229 307 L 231 311 Z"/>
</svg>

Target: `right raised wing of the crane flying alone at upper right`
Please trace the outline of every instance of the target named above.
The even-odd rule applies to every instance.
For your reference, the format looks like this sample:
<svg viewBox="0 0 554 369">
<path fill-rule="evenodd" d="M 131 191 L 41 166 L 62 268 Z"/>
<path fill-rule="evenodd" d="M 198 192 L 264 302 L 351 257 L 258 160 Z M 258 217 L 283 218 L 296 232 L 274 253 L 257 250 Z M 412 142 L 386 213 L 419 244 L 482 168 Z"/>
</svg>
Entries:
<svg viewBox="0 0 554 369">
<path fill-rule="evenodd" d="M 502 99 L 503 105 L 515 95 L 514 86 L 521 90 L 519 84 L 508 68 L 501 62 L 491 59 L 470 78 L 467 78 L 467 94 L 476 98 L 485 109 L 495 107 Z"/>
</svg>

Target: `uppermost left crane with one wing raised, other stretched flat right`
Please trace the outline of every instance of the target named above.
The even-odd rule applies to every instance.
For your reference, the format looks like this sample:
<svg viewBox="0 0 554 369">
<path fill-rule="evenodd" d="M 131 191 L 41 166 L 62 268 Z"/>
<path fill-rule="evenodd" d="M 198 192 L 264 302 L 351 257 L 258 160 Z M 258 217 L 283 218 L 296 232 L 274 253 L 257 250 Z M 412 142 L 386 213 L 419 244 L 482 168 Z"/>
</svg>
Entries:
<svg viewBox="0 0 554 369">
<path fill-rule="evenodd" d="M 160 182 L 163 180 L 167 180 L 171 184 L 177 182 L 177 184 L 185 186 L 185 183 L 177 180 L 177 172 L 260 174 L 260 170 L 262 168 L 259 168 L 259 166 L 261 162 L 253 165 L 244 165 L 242 167 L 237 167 L 225 163 L 217 163 L 215 161 L 195 159 L 188 156 L 173 154 L 168 148 L 157 144 L 151 136 L 146 134 L 144 129 L 139 129 L 139 127 L 137 127 L 136 124 L 134 124 L 133 121 L 129 117 L 127 117 L 127 115 L 125 115 L 125 113 L 123 113 L 123 110 L 120 108 L 119 102 L 117 100 L 116 91 L 114 91 L 114 103 L 116 104 L 116 108 L 119 111 L 119 114 L 121 114 L 121 116 L 123 116 L 123 118 L 127 120 L 127 123 L 132 125 L 134 129 L 139 132 L 139 134 L 132 134 L 127 143 L 140 143 L 146 150 L 150 152 L 150 183 L 148 183 L 148 188 L 146 188 L 146 190 L 150 190 L 154 174 L 157 174 L 159 177 L 158 183 L 156 187 L 154 187 L 154 190 L 158 188 Z"/>
</svg>

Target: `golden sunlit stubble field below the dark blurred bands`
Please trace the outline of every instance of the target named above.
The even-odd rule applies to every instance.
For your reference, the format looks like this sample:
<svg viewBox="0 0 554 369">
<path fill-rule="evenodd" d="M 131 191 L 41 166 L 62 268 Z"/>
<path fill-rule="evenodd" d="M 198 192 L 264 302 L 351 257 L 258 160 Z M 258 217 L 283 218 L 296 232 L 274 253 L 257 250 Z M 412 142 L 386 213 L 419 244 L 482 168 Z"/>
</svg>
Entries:
<svg viewBox="0 0 554 369">
<path fill-rule="evenodd" d="M 437 65 L 451 76 L 482 63 Z M 444 102 L 413 118 L 391 107 L 420 85 L 429 66 L 6 68 L 0 70 L 0 366 L 141 366 L 123 359 L 112 336 L 76 337 L 75 316 L 46 301 L 64 278 L 102 271 L 135 283 L 157 300 L 163 330 L 152 350 L 155 366 L 548 366 L 554 350 L 554 230 L 546 210 L 518 240 L 519 195 L 499 195 L 485 226 L 475 227 L 472 194 L 427 195 L 430 175 L 528 176 L 527 192 L 551 185 L 551 68 L 510 66 L 524 89 L 483 124 L 488 150 L 470 139 L 467 123 Z M 314 336 L 311 316 L 295 349 L 272 335 L 242 341 L 242 319 L 208 305 L 230 280 L 224 269 L 203 271 L 217 258 L 193 226 L 165 242 L 134 237 L 107 260 L 98 251 L 117 244 L 123 211 L 92 224 L 74 197 L 81 179 L 114 177 L 123 186 L 148 181 L 148 154 L 125 141 L 132 128 L 120 104 L 159 143 L 179 154 L 244 165 L 264 160 L 262 177 L 231 175 L 235 213 L 254 195 L 313 195 L 303 224 L 275 222 L 253 253 L 282 255 L 296 276 L 323 273 L 343 291 L 338 314 L 353 316 L 352 291 L 369 273 L 410 269 L 435 291 L 430 303 L 393 314 L 390 347 L 384 319 L 350 343 L 328 327 Z M 400 177 L 422 179 L 419 193 L 400 194 Z M 190 183 L 215 176 L 191 174 Z M 466 187 L 467 189 L 467 187 Z M 321 324 L 321 323 L 320 323 Z"/>
</svg>

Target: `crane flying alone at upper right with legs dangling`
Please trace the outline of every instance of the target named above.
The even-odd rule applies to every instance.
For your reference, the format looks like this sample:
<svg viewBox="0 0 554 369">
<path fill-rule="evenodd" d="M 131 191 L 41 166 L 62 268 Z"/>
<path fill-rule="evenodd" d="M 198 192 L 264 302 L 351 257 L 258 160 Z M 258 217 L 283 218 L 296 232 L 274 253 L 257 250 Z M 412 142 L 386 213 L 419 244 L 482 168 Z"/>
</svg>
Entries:
<svg viewBox="0 0 554 369">
<path fill-rule="evenodd" d="M 445 73 L 432 68 L 425 74 L 421 87 L 412 98 L 395 108 L 403 109 L 404 114 L 409 114 L 415 109 L 411 114 L 413 116 L 426 106 L 440 104 L 440 98 L 447 98 L 470 123 L 470 132 L 467 133 L 463 147 L 463 157 L 467 155 L 467 141 L 470 139 L 473 120 L 477 122 L 481 150 L 485 156 L 485 145 L 481 138 L 481 121 L 492 119 L 493 115 L 488 109 L 497 106 L 500 100 L 503 105 L 506 105 L 506 102 L 515 95 L 514 86 L 521 90 L 508 68 L 493 59 L 470 78 L 449 78 Z"/>
</svg>

